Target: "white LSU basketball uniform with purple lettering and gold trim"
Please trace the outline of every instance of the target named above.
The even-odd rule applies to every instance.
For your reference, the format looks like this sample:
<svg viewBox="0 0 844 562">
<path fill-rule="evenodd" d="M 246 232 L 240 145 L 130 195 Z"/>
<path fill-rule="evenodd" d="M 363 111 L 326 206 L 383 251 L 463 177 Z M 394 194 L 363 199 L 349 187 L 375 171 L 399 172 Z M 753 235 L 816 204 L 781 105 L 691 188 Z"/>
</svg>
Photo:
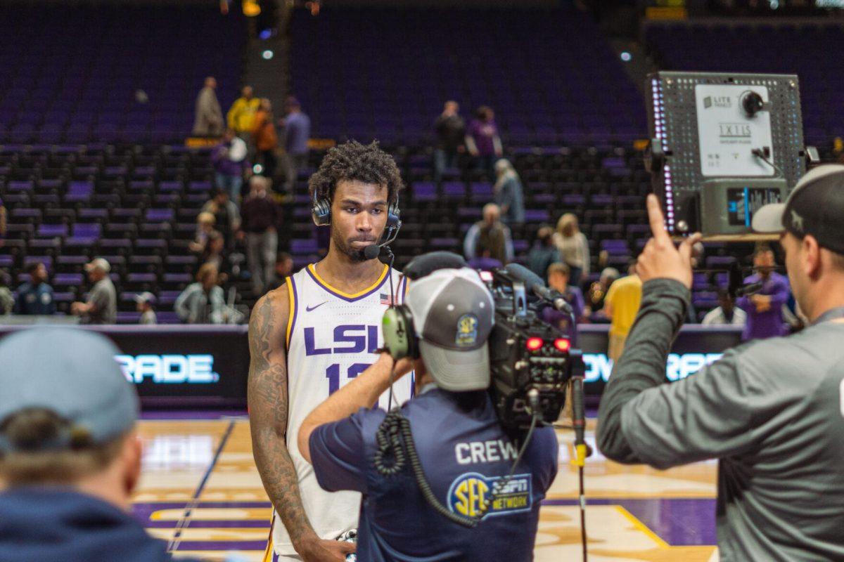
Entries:
<svg viewBox="0 0 844 562">
<path fill-rule="evenodd" d="M 287 448 L 299 479 L 302 505 L 320 538 L 333 539 L 357 527 L 360 494 L 327 492 L 317 484 L 311 463 L 299 452 L 299 428 L 308 414 L 338 388 L 349 383 L 376 361 L 383 345 L 381 318 L 391 302 L 390 278 L 401 304 L 407 280 L 387 265 L 378 281 L 354 295 L 338 291 L 317 274 L 313 264 L 288 277 L 290 313 L 287 324 Z M 392 407 L 413 393 L 413 377 L 392 385 Z M 387 404 L 389 390 L 378 406 Z M 278 513 L 273 511 L 272 548 L 268 554 L 295 554 Z"/>
</svg>

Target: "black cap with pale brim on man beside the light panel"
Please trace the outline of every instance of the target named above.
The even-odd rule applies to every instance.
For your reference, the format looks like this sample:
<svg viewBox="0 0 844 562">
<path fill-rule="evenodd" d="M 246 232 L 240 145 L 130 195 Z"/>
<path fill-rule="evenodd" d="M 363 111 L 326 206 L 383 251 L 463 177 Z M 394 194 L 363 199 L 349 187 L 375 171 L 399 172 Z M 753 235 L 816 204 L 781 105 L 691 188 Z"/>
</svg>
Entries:
<svg viewBox="0 0 844 562">
<path fill-rule="evenodd" d="M 785 203 L 771 203 L 756 211 L 757 233 L 787 231 L 797 238 L 811 234 L 818 244 L 844 254 L 844 166 L 825 164 L 809 171 Z"/>
</svg>

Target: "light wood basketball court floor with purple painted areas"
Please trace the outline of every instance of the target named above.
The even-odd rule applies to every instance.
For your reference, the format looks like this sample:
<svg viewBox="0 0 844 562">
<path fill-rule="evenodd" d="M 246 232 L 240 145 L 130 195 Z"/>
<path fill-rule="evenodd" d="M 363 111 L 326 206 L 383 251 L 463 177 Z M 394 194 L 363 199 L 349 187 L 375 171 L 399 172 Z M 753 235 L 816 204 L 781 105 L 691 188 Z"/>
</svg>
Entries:
<svg viewBox="0 0 844 562">
<path fill-rule="evenodd" d="M 246 416 L 144 415 L 140 432 L 145 453 L 134 512 L 150 533 L 177 556 L 262 560 L 270 503 L 252 462 Z M 573 436 L 558 431 L 558 438 L 560 471 L 542 506 L 538 562 L 581 559 Z M 586 469 L 589 559 L 717 560 L 716 470 L 714 461 L 667 471 L 625 467 L 596 452 Z"/>
</svg>

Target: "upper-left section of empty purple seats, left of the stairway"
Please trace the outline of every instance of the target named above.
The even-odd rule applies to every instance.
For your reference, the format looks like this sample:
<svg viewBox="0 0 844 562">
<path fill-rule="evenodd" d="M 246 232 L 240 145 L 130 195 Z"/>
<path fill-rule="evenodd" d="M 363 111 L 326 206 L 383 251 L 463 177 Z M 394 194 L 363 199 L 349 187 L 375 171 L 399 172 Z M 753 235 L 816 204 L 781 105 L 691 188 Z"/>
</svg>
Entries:
<svg viewBox="0 0 844 562">
<path fill-rule="evenodd" d="M 223 107 L 235 98 L 246 42 L 235 12 L 3 6 L 0 144 L 183 142 L 203 78 L 216 76 Z"/>
</svg>

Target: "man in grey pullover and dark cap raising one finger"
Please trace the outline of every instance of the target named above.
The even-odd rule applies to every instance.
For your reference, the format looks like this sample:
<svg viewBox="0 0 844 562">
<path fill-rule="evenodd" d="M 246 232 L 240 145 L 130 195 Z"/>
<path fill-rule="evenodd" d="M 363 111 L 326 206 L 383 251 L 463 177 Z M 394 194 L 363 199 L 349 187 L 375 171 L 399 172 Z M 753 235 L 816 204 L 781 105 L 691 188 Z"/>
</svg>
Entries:
<svg viewBox="0 0 844 562">
<path fill-rule="evenodd" d="M 740 345 L 670 384 L 695 237 L 675 249 L 656 196 L 647 206 L 641 308 L 601 399 L 598 448 L 656 468 L 718 458 L 723 561 L 844 559 L 844 166 L 813 169 L 785 204 L 753 217 L 756 232 L 781 233 L 811 325 Z"/>
</svg>

